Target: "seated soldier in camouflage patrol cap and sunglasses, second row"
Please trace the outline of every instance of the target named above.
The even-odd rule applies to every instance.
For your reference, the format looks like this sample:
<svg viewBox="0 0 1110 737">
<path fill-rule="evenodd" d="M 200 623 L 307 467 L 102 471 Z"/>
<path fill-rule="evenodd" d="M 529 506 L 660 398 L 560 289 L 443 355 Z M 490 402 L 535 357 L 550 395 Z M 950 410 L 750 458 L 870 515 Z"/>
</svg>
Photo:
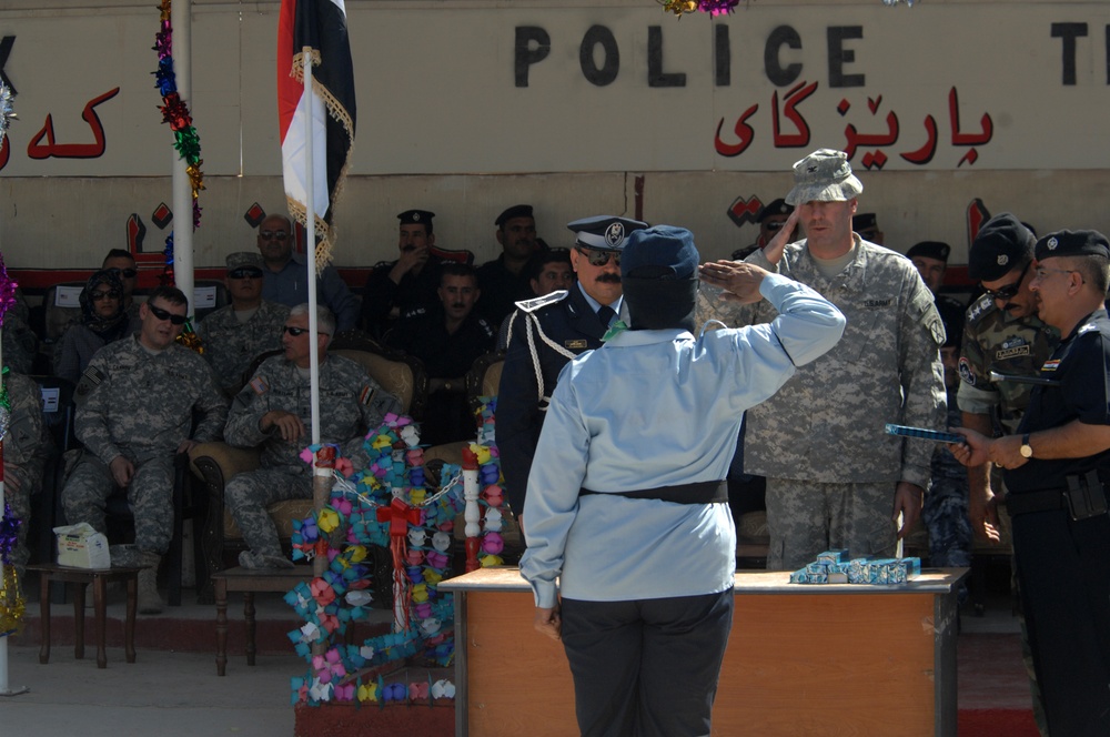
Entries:
<svg viewBox="0 0 1110 737">
<path fill-rule="evenodd" d="M 228 256 L 228 294 L 231 304 L 196 325 L 204 359 L 215 371 L 220 388 L 233 397 L 243 386 L 243 374 L 266 351 L 281 347 L 282 325 L 289 307 L 262 299 L 262 256 L 241 251 Z"/>
</svg>

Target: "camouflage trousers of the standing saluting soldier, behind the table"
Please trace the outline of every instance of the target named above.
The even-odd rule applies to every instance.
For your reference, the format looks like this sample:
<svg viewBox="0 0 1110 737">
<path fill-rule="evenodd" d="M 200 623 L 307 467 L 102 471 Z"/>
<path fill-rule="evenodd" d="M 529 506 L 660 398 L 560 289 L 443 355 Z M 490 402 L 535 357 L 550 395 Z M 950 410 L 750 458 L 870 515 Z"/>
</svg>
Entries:
<svg viewBox="0 0 1110 737">
<path fill-rule="evenodd" d="M 895 482 L 823 484 L 767 479 L 768 571 L 796 571 L 817 554 L 846 548 L 851 557 L 892 557 Z"/>
</svg>

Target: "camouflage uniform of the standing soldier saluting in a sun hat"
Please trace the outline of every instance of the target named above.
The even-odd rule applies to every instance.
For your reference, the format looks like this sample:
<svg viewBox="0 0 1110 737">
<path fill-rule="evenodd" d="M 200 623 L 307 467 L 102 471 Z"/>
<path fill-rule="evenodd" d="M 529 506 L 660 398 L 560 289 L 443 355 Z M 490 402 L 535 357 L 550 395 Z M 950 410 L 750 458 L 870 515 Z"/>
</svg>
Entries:
<svg viewBox="0 0 1110 737">
<path fill-rule="evenodd" d="M 805 241 L 787 245 L 777 269 L 763 251 L 748 256 L 814 287 L 848 320 L 836 347 L 747 412 L 744 472 L 767 476 L 768 568 L 800 567 L 826 546 L 891 554 L 894 487 L 928 488 L 934 448 L 887 435 L 885 424 L 945 427 L 945 330 L 932 294 L 905 256 L 852 238 L 856 254 L 833 280 Z M 776 316 L 767 301 L 737 305 L 716 294 L 703 290 L 700 316 L 729 327 Z"/>
</svg>

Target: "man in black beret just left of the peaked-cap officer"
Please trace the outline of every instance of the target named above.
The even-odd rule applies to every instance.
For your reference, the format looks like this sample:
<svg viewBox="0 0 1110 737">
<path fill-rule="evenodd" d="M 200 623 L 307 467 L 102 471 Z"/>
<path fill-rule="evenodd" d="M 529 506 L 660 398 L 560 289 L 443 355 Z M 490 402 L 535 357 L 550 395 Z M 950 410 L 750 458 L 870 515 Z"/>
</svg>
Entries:
<svg viewBox="0 0 1110 737">
<path fill-rule="evenodd" d="M 533 296 L 525 266 L 536 253 L 536 219 L 531 204 L 514 204 L 497 215 L 497 243 L 501 255 L 478 269 L 482 299 L 477 312 L 491 325 L 500 325 L 513 311 L 513 304 Z"/>
</svg>

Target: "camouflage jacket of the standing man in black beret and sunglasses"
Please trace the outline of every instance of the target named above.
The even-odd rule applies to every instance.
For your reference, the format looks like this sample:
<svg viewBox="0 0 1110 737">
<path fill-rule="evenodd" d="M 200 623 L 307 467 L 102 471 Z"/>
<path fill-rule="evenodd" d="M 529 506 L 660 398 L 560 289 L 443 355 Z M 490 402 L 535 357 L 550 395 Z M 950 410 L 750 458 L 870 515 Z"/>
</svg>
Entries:
<svg viewBox="0 0 1110 737">
<path fill-rule="evenodd" d="M 1060 344 L 1060 331 L 1038 317 L 1012 317 L 983 294 L 968 307 L 960 350 L 959 405 L 963 412 L 993 414 L 1007 434 L 1029 406 L 1032 384 L 992 382 L 990 372 L 1011 376 L 1036 376 L 1041 364 Z"/>
</svg>

